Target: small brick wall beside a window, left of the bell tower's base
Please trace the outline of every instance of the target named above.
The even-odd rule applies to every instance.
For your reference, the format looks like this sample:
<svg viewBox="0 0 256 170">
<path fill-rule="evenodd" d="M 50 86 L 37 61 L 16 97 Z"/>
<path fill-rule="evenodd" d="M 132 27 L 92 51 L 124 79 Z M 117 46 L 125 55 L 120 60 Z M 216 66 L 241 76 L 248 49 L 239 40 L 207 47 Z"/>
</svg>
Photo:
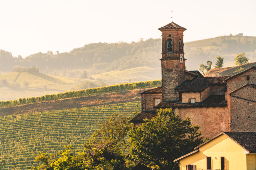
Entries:
<svg viewBox="0 0 256 170">
<path fill-rule="evenodd" d="M 155 100 L 161 99 L 162 102 L 162 94 L 141 94 L 141 111 L 151 111 L 155 110 Z"/>
</svg>

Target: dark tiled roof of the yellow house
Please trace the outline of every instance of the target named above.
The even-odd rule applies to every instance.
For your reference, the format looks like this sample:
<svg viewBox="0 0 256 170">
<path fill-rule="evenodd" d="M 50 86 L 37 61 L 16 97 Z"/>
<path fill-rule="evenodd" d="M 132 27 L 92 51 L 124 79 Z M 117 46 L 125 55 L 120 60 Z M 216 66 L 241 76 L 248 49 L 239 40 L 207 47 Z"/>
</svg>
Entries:
<svg viewBox="0 0 256 170">
<path fill-rule="evenodd" d="M 256 132 L 224 132 L 250 153 L 256 153 Z"/>
</svg>

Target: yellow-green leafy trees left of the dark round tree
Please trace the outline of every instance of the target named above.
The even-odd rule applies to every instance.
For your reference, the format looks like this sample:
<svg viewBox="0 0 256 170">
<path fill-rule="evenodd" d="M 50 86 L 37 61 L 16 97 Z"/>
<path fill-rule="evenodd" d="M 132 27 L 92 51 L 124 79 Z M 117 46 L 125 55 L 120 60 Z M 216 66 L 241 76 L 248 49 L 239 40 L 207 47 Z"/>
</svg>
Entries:
<svg viewBox="0 0 256 170">
<path fill-rule="evenodd" d="M 131 128 L 130 117 L 121 117 L 113 114 L 110 119 L 100 124 L 84 144 L 84 150 L 73 150 L 71 145 L 55 155 L 41 153 L 35 161 L 41 165 L 33 170 L 124 170 L 126 169 L 126 156 L 124 150 L 127 142 L 124 139 Z"/>
</svg>

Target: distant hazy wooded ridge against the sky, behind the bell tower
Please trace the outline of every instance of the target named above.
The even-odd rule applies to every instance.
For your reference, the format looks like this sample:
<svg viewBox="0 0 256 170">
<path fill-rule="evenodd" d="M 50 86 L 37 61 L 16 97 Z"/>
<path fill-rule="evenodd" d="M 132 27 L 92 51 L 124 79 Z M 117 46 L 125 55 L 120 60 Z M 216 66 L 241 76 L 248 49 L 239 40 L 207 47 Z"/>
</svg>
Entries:
<svg viewBox="0 0 256 170">
<path fill-rule="evenodd" d="M 231 66 L 238 53 L 256 61 L 256 37 L 220 36 L 184 43 L 188 70 L 198 70 L 201 63 L 217 56 L 224 57 L 224 66 Z M 140 40 L 139 42 L 91 43 L 70 52 L 54 54 L 35 53 L 25 58 L 14 57 L 8 51 L 0 50 L 0 71 L 10 72 L 16 66 L 36 66 L 47 74 L 63 77 L 79 77 L 86 70 L 89 75 L 114 70 L 125 70 L 147 66 L 160 69 L 161 39 Z"/>
</svg>

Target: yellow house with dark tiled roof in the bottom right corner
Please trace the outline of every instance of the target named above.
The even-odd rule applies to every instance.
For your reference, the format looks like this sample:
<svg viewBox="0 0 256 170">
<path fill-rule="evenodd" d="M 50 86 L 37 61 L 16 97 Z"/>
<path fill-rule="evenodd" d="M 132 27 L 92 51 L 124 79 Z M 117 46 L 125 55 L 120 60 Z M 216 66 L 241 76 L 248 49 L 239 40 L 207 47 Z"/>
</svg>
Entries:
<svg viewBox="0 0 256 170">
<path fill-rule="evenodd" d="M 180 170 L 255 170 L 256 132 L 222 132 L 176 161 Z"/>
</svg>

